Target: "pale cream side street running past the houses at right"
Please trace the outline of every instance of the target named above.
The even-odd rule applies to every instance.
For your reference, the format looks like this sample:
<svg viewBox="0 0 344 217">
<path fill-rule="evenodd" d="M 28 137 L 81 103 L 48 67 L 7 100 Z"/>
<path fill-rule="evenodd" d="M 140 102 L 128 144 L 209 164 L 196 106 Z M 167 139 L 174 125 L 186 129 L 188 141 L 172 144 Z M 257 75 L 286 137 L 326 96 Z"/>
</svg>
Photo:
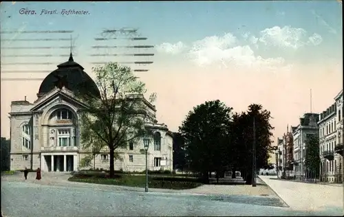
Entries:
<svg viewBox="0 0 344 217">
<path fill-rule="evenodd" d="M 290 208 L 302 211 L 339 209 L 343 212 L 343 186 L 281 181 L 259 176 Z"/>
</svg>

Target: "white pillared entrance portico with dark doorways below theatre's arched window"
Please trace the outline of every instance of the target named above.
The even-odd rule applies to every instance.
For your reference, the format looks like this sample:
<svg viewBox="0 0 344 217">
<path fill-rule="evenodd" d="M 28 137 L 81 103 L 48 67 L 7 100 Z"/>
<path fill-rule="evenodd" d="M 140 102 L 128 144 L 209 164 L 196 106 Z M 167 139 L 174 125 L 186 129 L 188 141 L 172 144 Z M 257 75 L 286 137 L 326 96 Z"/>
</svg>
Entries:
<svg viewBox="0 0 344 217">
<path fill-rule="evenodd" d="M 44 172 L 69 172 L 78 169 L 76 152 L 42 153 L 41 170 Z"/>
</svg>

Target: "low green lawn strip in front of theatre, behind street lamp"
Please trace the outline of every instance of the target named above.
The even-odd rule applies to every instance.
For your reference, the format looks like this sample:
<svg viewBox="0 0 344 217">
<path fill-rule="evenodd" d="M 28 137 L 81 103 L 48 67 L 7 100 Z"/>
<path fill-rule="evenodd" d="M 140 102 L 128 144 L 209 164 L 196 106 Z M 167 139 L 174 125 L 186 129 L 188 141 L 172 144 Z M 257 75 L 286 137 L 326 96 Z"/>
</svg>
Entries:
<svg viewBox="0 0 344 217">
<path fill-rule="evenodd" d="M 96 183 L 103 185 L 123 185 L 129 187 L 144 187 L 146 183 L 146 176 L 131 175 L 131 174 L 116 174 L 115 179 L 109 179 L 105 177 L 103 173 L 92 174 L 74 174 L 68 181 L 78 181 L 84 183 Z M 191 189 L 201 186 L 202 183 L 195 179 L 188 178 L 175 178 L 168 176 L 149 176 L 149 187 L 164 188 L 173 190 Z"/>
</svg>

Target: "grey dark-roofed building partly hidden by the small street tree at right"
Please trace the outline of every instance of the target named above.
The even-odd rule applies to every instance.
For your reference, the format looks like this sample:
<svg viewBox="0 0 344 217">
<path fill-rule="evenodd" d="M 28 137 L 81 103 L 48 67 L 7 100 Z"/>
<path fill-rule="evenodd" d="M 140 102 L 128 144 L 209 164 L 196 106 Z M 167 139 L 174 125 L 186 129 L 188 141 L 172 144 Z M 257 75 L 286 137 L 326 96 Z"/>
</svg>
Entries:
<svg viewBox="0 0 344 217">
<path fill-rule="evenodd" d="M 305 146 L 310 136 L 318 137 L 319 126 L 318 113 L 305 113 L 299 119 L 299 125 L 292 126 L 292 135 L 294 137 L 294 172 L 296 176 L 305 175 Z"/>
</svg>

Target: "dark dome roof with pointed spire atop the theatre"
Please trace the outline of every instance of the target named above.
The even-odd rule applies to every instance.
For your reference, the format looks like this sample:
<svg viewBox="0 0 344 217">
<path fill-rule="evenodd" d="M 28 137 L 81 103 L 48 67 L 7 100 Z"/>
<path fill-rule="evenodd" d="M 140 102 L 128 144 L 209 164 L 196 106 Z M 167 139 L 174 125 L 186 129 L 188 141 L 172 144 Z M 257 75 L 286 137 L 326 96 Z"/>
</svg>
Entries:
<svg viewBox="0 0 344 217">
<path fill-rule="evenodd" d="M 43 95 L 55 89 L 55 87 L 65 87 L 76 92 L 81 87 L 87 87 L 87 91 L 92 95 L 100 96 L 99 89 L 89 75 L 83 71 L 83 67 L 74 62 L 72 53 L 67 62 L 57 66 L 58 69 L 52 71 L 41 83 L 38 95 Z"/>
</svg>

